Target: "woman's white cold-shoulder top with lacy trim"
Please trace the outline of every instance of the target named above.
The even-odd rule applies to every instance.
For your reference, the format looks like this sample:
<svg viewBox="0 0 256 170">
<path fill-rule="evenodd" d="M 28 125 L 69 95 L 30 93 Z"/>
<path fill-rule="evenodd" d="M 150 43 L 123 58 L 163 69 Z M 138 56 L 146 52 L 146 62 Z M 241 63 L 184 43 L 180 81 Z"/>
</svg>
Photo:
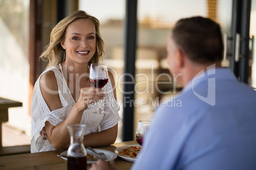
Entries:
<svg viewBox="0 0 256 170">
<path fill-rule="evenodd" d="M 41 75 L 39 76 L 38 80 L 34 85 L 34 92 L 31 101 L 31 153 L 55 150 L 48 140 L 44 140 L 41 138 L 39 132 L 45 126 L 46 121 L 50 122 L 50 124 L 52 124 L 53 126 L 57 126 L 58 124 L 60 124 L 60 122 L 64 121 L 68 117 L 71 109 L 76 103 L 71 96 L 71 92 L 69 91 L 68 84 L 64 79 L 62 69 L 60 68 L 60 70 L 57 67 L 52 67 L 48 70 L 45 70 L 45 72 L 43 72 L 41 75 L 49 71 L 54 72 L 57 79 L 57 93 L 59 93 L 59 98 L 62 106 L 61 108 L 50 111 L 48 105 L 46 105 L 39 86 L 39 80 L 41 78 Z M 97 111 L 98 105 L 89 105 L 89 108 L 84 110 L 82 119 L 80 121 L 80 124 L 86 125 L 85 135 L 90 133 L 96 133 L 97 131 L 99 131 L 99 129 L 109 129 L 115 126 L 118 121 L 120 121 L 120 116 L 118 115 L 120 107 L 114 98 L 113 88 L 111 86 L 110 79 L 106 86 L 104 86 L 102 89 L 106 93 L 106 97 L 104 99 L 104 111 L 108 113 L 95 114 L 93 112 Z M 67 136 L 67 138 L 69 138 L 69 136 Z"/>
</svg>

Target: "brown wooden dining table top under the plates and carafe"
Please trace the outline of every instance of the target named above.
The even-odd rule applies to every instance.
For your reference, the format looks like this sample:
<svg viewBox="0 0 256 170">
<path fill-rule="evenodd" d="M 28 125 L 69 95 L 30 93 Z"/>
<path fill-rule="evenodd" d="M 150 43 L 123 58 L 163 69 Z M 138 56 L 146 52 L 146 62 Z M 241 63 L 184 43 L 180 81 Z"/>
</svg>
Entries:
<svg viewBox="0 0 256 170">
<path fill-rule="evenodd" d="M 115 149 L 125 147 L 127 145 L 138 145 L 136 141 L 123 141 L 114 143 L 106 147 L 96 147 L 96 149 L 108 150 L 114 152 Z M 0 157 L 0 169 L 67 169 L 68 162 L 60 155 L 66 150 L 53 150 L 47 152 L 17 154 Z M 117 169 L 131 169 L 133 162 L 117 157 L 115 165 Z M 87 164 L 90 169 L 91 164 Z"/>
</svg>

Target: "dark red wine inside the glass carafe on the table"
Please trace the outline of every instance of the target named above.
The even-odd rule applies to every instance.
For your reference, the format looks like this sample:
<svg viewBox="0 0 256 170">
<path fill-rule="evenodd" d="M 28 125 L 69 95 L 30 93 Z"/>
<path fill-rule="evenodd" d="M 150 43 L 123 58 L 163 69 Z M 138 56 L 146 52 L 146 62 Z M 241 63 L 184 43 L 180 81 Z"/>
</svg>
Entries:
<svg viewBox="0 0 256 170">
<path fill-rule="evenodd" d="M 68 170 L 87 169 L 87 159 L 85 157 L 68 157 Z"/>
</svg>

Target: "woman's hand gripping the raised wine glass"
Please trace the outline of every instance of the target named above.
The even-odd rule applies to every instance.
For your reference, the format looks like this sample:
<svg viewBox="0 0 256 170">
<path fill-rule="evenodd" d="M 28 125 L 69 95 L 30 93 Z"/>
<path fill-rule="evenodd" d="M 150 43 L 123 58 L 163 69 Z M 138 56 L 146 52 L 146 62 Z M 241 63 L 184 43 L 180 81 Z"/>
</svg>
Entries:
<svg viewBox="0 0 256 170">
<path fill-rule="evenodd" d="M 79 100 L 76 103 L 80 110 L 85 110 L 90 104 L 103 100 L 105 96 L 103 89 L 94 87 L 82 88 L 80 90 Z"/>
</svg>

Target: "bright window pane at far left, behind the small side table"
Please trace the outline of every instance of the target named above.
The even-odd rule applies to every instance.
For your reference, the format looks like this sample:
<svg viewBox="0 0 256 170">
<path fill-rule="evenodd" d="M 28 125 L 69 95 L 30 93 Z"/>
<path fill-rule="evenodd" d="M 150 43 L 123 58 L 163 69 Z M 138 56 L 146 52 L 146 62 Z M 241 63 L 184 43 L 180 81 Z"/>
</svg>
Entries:
<svg viewBox="0 0 256 170">
<path fill-rule="evenodd" d="M 29 115 L 29 0 L 0 1 L 0 96 L 21 101 L 9 109 L 10 126 L 31 134 Z M 4 135 L 4 134 L 3 134 Z M 11 135 L 11 134 L 9 134 Z M 29 144 L 3 137 L 3 146 Z M 15 141 L 17 140 L 17 141 Z"/>
</svg>

